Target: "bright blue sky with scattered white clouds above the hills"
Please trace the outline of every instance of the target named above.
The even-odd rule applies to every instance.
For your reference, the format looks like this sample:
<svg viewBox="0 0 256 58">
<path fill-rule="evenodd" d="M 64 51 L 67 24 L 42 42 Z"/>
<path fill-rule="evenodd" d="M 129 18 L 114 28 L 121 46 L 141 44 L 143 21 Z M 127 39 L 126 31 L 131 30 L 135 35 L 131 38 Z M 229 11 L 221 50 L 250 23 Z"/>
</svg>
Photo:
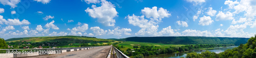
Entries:
<svg viewBox="0 0 256 58">
<path fill-rule="evenodd" d="M 0 38 L 253 37 L 256 1 L 0 0 Z"/>
</svg>

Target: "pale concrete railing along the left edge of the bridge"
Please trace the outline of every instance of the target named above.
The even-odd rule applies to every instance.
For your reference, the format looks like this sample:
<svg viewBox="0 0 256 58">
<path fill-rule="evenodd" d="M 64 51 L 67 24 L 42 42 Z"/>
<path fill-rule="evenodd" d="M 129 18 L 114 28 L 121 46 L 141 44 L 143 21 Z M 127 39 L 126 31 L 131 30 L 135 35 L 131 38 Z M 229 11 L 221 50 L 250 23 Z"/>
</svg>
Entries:
<svg viewBox="0 0 256 58">
<path fill-rule="evenodd" d="M 92 48 L 96 48 L 96 47 L 102 47 L 102 46 L 68 47 L 68 48 L 39 48 L 39 49 L 0 49 L 0 58 L 60 54 L 63 52 L 92 49 Z"/>
</svg>

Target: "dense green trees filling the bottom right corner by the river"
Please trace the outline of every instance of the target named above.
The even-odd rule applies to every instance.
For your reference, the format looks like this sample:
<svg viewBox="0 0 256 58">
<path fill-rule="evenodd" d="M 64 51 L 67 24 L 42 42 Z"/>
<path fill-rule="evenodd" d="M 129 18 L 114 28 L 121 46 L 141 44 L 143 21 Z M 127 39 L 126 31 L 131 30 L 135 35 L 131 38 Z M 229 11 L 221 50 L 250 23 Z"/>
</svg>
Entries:
<svg viewBox="0 0 256 58">
<path fill-rule="evenodd" d="M 256 35 L 255 35 L 256 37 Z M 256 38 L 251 37 L 246 44 L 240 44 L 233 49 L 227 49 L 219 54 L 215 52 L 205 51 L 200 53 L 188 53 L 187 58 L 255 58 L 256 57 Z"/>
</svg>

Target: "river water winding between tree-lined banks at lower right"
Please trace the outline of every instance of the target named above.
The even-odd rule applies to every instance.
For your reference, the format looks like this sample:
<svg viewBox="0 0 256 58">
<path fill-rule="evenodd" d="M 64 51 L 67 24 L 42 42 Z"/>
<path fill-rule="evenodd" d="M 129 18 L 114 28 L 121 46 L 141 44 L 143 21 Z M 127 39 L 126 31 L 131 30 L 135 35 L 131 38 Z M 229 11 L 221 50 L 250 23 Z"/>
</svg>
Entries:
<svg viewBox="0 0 256 58">
<path fill-rule="evenodd" d="M 216 47 L 212 50 L 208 50 L 210 52 L 215 52 L 215 53 L 220 53 L 220 52 L 224 52 L 227 49 L 232 49 L 234 47 L 238 47 L 238 46 L 229 46 L 229 47 Z M 144 56 L 146 58 L 179 58 L 179 57 L 185 57 L 187 55 L 187 53 L 190 52 L 197 52 L 197 53 L 201 53 L 204 52 L 206 50 L 189 50 L 188 52 L 179 52 L 179 53 L 172 53 L 172 54 L 160 54 L 160 55 L 150 55 L 150 56 Z"/>
</svg>

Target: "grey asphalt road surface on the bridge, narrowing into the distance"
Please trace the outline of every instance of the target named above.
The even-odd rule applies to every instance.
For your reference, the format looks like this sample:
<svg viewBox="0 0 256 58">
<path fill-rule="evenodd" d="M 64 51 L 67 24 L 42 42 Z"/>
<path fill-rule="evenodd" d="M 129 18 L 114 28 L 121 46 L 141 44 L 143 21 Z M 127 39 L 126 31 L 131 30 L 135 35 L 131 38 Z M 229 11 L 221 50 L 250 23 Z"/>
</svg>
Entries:
<svg viewBox="0 0 256 58">
<path fill-rule="evenodd" d="M 32 56 L 30 58 L 106 58 L 111 46 L 103 46 L 93 49 L 65 52 L 61 54 Z"/>
</svg>

